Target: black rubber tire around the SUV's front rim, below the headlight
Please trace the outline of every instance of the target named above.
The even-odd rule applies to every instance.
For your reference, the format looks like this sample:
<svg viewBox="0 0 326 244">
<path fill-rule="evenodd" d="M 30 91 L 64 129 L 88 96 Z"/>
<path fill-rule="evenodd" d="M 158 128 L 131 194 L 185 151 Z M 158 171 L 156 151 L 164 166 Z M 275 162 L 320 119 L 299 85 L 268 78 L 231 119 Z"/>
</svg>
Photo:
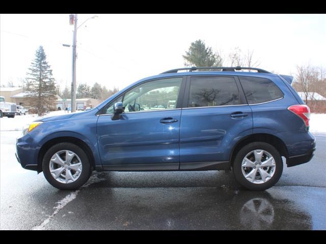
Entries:
<svg viewBox="0 0 326 244">
<path fill-rule="evenodd" d="M 80 173 L 80 176 L 73 182 L 64 184 L 59 181 L 57 181 L 50 173 L 50 159 L 51 157 L 56 154 L 60 150 L 70 150 L 73 151 L 82 162 L 82 173 Z M 69 142 L 62 142 L 58 143 L 54 146 L 52 146 L 50 149 L 47 150 L 43 157 L 42 161 L 42 169 L 43 174 L 46 178 L 46 180 L 55 188 L 58 188 L 60 190 L 76 190 L 79 187 L 83 186 L 86 181 L 89 179 L 92 173 L 92 167 L 89 161 L 89 158 L 87 157 L 87 154 L 85 153 L 85 150 L 80 148 L 79 146 L 69 143 Z"/>
</svg>

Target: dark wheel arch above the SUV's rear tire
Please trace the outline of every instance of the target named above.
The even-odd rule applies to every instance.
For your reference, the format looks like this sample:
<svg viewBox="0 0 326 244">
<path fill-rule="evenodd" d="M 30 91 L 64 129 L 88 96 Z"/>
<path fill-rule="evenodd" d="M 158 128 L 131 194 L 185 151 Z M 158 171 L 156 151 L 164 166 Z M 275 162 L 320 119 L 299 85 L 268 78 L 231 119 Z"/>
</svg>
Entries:
<svg viewBox="0 0 326 244">
<path fill-rule="evenodd" d="M 274 146 L 281 154 L 281 157 L 284 156 L 288 159 L 288 151 L 285 143 L 277 136 L 267 134 L 267 133 L 256 133 L 248 135 L 241 140 L 239 140 L 232 148 L 230 155 L 230 166 L 233 167 L 233 162 L 237 152 L 248 143 L 252 142 L 266 142 L 272 146 Z"/>
</svg>

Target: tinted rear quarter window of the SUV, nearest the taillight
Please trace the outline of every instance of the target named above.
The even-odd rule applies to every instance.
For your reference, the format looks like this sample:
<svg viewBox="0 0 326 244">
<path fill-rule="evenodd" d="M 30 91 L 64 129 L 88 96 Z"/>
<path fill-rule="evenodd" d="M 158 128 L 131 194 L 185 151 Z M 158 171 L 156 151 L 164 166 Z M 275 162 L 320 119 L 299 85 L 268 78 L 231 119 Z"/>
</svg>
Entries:
<svg viewBox="0 0 326 244">
<path fill-rule="evenodd" d="M 239 77 L 249 104 L 264 103 L 283 97 L 273 81 L 258 77 Z"/>
</svg>

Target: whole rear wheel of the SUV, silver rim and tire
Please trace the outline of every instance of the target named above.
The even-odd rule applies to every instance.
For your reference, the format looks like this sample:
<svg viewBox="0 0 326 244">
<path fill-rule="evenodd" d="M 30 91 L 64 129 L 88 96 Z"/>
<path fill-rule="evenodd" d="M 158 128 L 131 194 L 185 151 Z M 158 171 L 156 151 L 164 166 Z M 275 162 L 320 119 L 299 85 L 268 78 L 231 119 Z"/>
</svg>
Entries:
<svg viewBox="0 0 326 244">
<path fill-rule="evenodd" d="M 273 187 L 283 172 L 279 151 L 265 142 L 253 142 L 242 147 L 234 160 L 233 173 L 241 186 L 263 191 Z"/>
</svg>

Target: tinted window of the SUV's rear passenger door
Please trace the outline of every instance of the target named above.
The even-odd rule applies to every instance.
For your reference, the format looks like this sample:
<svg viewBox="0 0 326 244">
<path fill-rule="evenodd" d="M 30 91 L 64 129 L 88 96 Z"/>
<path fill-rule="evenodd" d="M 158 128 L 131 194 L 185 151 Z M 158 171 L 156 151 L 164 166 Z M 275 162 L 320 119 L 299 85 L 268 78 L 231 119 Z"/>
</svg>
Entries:
<svg viewBox="0 0 326 244">
<path fill-rule="evenodd" d="M 188 107 L 239 104 L 239 91 L 233 77 L 192 77 Z"/>
</svg>

